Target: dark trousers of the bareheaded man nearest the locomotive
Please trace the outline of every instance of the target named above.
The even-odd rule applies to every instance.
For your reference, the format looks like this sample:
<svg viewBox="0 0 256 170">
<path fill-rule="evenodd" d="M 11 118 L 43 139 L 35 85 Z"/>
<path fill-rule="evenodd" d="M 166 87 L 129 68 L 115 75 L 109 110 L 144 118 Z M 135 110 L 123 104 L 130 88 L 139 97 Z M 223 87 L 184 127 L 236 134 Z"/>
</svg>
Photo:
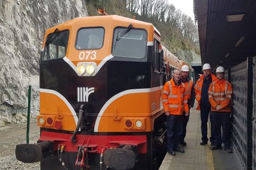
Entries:
<svg viewBox="0 0 256 170">
<path fill-rule="evenodd" d="M 182 115 L 167 116 L 167 151 L 179 148 L 182 133 Z"/>
</svg>

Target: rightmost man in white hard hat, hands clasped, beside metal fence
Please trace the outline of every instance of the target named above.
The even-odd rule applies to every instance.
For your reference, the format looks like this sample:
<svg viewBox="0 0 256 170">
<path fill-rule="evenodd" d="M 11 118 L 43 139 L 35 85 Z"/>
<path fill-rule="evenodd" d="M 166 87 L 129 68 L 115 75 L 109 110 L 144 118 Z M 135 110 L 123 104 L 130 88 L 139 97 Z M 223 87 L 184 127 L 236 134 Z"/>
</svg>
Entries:
<svg viewBox="0 0 256 170">
<path fill-rule="evenodd" d="M 216 74 L 217 80 L 212 82 L 208 91 L 209 101 L 211 103 L 211 113 L 213 120 L 214 132 L 214 146 L 211 146 L 211 150 L 222 149 L 221 143 L 223 141 L 224 148 L 228 153 L 232 153 L 230 149 L 230 113 L 231 113 L 231 96 L 233 88 L 231 83 L 224 79 L 224 68 L 222 66 L 217 67 Z M 220 128 L 222 126 L 222 141 Z"/>
</svg>

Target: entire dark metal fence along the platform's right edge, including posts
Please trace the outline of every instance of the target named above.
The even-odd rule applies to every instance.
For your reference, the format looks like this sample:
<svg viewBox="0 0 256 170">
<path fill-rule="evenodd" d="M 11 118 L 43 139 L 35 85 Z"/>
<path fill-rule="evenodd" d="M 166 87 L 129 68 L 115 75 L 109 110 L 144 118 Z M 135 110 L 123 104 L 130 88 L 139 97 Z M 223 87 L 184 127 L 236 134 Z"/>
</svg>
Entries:
<svg viewBox="0 0 256 170">
<path fill-rule="evenodd" d="M 256 57 L 225 71 L 233 85 L 231 142 L 242 169 L 256 168 Z"/>
</svg>

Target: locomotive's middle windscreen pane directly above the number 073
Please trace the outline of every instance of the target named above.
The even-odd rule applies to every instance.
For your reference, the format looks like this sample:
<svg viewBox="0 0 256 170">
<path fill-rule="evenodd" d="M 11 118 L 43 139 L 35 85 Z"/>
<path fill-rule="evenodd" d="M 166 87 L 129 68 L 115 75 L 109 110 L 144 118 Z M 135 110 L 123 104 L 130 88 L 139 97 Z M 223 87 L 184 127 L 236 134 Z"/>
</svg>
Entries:
<svg viewBox="0 0 256 170">
<path fill-rule="evenodd" d="M 77 33 L 76 49 L 99 49 L 103 45 L 103 28 L 82 28 Z"/>
</svg>

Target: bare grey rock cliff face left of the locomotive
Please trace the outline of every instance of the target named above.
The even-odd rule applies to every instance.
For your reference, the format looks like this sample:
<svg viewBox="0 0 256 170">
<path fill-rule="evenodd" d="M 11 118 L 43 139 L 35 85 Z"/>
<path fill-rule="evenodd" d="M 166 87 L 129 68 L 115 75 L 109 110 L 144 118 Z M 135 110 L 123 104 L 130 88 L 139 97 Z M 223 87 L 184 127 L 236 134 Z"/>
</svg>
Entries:
<svg viewBox="0 0 256 170">
<path fill-rule="evenodd" d="M 46 29 L 79 16 L 87 16 L 83 0 L 0 1 L 0 124 L 7 108 L 26 108 L 28 84 L 39 86 Z"/>
</svg>

